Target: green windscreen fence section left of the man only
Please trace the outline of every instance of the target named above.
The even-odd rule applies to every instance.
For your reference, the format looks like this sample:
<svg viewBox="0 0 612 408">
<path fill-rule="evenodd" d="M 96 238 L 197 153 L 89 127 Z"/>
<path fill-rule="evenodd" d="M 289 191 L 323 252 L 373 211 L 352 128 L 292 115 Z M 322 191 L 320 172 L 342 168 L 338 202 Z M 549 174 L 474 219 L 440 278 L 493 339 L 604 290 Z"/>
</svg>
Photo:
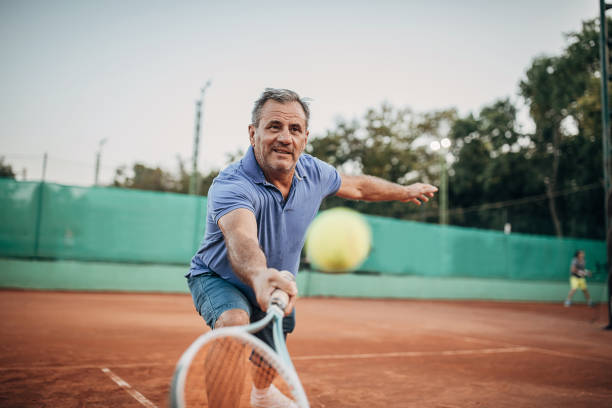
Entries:
<svg viewBox="0 0 612 408">
<path fill-rule="evenodd" d="M 0 179 L 0 256 L 189 261 L 206 198 Z"/>
</svg>

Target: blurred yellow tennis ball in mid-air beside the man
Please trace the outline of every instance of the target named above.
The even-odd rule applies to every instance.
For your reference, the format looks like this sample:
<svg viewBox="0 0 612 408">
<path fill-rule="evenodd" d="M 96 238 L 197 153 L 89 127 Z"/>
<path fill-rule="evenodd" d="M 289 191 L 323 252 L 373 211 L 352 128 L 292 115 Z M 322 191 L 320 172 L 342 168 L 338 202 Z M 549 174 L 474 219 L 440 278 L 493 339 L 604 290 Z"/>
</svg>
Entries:
<svg viewBox="0 0 612 408">
<path fill-rule="evenodd" d="M 358 268 L 368 257 L 370 226 L 348 208 L 321 212 L 306 232 L 306 257 L 322 272 L 341 273 Z"/>
</svg>

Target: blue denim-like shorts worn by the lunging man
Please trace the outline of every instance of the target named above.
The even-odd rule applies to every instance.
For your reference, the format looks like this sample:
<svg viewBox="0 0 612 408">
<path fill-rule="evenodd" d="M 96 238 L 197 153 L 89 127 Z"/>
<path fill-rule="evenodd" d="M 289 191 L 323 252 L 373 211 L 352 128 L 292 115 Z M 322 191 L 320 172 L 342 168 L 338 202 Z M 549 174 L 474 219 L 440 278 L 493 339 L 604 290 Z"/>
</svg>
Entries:
<svg viewBox="0 0 612 408">
<path fill-rule="evenodd" d="M 249 302 L 247 297 L 238 289 L 214 272 L 204 272 L 200 275 L 187 277 L 191 297 L 197 312 L 202 316 L 208 327 L 215 327 L 219 316 L 230 309 L 242 309 L 249 315 L 250 321 L 261 320 L 266 313 L 259 305 Z M 291 315 L 283 319 L 283 332 L 293 332 L 295 328 L 295 308 Z M 272 339 L 272 325 L 268 325 L 257 333 L 255 337 L 274 348 Z"/>
</svg>

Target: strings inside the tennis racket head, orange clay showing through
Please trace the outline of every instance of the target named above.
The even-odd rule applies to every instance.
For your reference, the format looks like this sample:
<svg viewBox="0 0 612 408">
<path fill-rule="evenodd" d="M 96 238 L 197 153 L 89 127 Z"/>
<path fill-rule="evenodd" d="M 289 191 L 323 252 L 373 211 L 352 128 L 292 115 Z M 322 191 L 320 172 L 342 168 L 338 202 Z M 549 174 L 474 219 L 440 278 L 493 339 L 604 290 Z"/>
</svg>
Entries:
<svg viewBox="0 0 612 408">
<path fill-rule="evenodd" d="M 271 384 L 292 399 L 290 387 L 262 353 L 242 339 L 221 337 L 194 356 L 185 380 L 185 406 L 250 407 L 253 387 L 265 389 Z"/>
</svg>

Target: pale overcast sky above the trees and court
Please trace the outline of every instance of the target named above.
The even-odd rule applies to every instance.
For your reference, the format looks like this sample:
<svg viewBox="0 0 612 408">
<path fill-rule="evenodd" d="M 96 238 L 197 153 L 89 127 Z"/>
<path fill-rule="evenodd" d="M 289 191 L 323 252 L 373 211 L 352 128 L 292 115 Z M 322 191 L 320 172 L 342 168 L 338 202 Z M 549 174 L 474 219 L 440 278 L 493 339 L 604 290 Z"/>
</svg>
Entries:
<svg viewBox="0 0 612 408">
<path fill-rule="evenodd" d="M 265 87 L 312 99 L 311 137 L 388 101 L 417 112 L 519 102 L 531 60 L 598 17 L 596 0 L 0 0 L 0 156 L 27 179 L 90 185 L 142 162 L 199 168 L 248 146 Z"/>
</svg>

